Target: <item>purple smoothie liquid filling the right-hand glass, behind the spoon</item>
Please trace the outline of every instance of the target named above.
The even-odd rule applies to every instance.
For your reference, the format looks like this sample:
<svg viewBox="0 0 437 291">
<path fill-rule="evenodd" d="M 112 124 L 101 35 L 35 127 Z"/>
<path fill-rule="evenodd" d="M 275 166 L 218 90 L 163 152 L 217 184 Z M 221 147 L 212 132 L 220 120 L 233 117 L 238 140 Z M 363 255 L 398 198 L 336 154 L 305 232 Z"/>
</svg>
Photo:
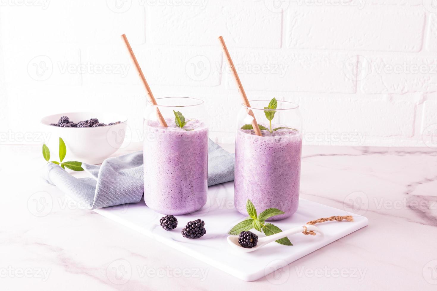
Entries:
<svg viewBox="0 0 437 291">
<path fill-rule="evenodd" d="M 247 215 L 250 199 L 259 213 L 271 207 L 285 212 L 267 220 L 284 219 L 299 205 L 302 136 L 291 129 L 262 130 L 262 134 L 259 137 L 253 130 L 237 130 L 235 207 Z"/>
</svg>

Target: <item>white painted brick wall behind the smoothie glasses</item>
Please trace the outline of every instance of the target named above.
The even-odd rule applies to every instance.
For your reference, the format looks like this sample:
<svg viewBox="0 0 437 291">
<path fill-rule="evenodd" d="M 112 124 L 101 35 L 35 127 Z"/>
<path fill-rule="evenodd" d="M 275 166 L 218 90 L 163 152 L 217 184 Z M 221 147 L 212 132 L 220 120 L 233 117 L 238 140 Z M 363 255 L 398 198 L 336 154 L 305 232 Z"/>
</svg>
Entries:
<svg viewBox="0 0 437 291">
<path fill-rule="evenodd" d="M 299 103 L 305 144 L 425 146 L 437 136 L 430 0 L 19 3 L 0 6 L 0 133 L 38 132 L 52 113 L 108 110 L 127 114 L 139 140 L 146 94 L 126 33 L 155 96 L 205 100 L 219 142 L 233 141 L 240 103 L 219 35 L 250 99 Z"/>
</svg>

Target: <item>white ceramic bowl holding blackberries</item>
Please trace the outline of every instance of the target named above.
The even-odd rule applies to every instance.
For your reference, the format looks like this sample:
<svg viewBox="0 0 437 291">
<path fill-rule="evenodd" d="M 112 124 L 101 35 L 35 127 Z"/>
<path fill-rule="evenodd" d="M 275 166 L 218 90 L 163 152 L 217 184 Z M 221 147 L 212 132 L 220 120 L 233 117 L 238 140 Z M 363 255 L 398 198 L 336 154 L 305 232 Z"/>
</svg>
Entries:
<svg viewBox="0 0 437 291">
<path fill-rule="evenodd" d="M 121 123 L 102 127 L 55 127 L 61 116 L 68 116 L 75 123 L 90 118 L 97 118 L 105 124 Z M 80 161 L 87 164 L 101 164 L 107 157 L 117 151 L 126 135 L 127 118 L 124 115 L 108 112 L 67 112 L 45 116 L 41 119 L 45 131 L 49 134 L 47 146 L 50 160 L 59 161 L 59 137 L 67 147 L 64 161 Z"/>
</svg>

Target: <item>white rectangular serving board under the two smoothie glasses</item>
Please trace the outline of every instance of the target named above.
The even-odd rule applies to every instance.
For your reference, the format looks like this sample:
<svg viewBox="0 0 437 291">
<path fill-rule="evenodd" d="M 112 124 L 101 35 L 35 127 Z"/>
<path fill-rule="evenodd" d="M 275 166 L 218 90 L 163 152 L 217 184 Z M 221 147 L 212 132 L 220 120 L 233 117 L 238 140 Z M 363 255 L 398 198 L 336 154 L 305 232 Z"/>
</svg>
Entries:
<svg viewBox="0 0 437 291">
<path fill-rule="evenodd" d="M 149 209 L 143 200 L 139 203 L 95 209 L 94 211 L 244 281 L 258 280 L 274 270 L 368 225 L 368 219 L 364 216 L 357 216 L 344 210 L 300 199 L 299 209 L 293 216 L 272 223 L 284 230 L 302 226 L 314 219 L 338 215 L 353 215 L 354 222 L 320 223 L 317 224 L 317 227 L 325 233 L 324 236 L 298 233 L 288 237 L 293 246 L 270 243 L 255 252 L 240 253 L 229 246 L 226 241 L 229 229 L 246 217 L 234 209 L 233 196 L 233 182 L 209 187 L 207 204 L 198 212 L 176 216 L 178 226 L 172 231 L 161 228 L 159 219 L 163 215 Z M 184 238 L 180 230 L 188 221 L 198 218 L 205 221 L 207 231 L 205 236 L 195 240 Z M 259 236 L 264 236 L 263 233 L 254 229 L 252 231 Z"/>
</svg>

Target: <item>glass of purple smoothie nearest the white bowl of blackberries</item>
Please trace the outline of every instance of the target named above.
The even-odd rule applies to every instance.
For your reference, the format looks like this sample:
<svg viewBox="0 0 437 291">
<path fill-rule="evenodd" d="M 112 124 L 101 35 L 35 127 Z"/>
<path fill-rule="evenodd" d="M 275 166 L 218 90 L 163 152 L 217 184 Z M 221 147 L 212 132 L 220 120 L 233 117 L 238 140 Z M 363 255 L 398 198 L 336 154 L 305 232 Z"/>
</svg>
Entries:
<svg viewBox="0 0 437 291">
<path fill-rule="evenodd" d="M 156 212 L 181 215 L 205 205 L 208 193 L 208 125 L 203 101 L 156 99 L 144 118 L 144 201 Z M 159 109 L 168 127 L 156 117 Z"/>
</svg>

